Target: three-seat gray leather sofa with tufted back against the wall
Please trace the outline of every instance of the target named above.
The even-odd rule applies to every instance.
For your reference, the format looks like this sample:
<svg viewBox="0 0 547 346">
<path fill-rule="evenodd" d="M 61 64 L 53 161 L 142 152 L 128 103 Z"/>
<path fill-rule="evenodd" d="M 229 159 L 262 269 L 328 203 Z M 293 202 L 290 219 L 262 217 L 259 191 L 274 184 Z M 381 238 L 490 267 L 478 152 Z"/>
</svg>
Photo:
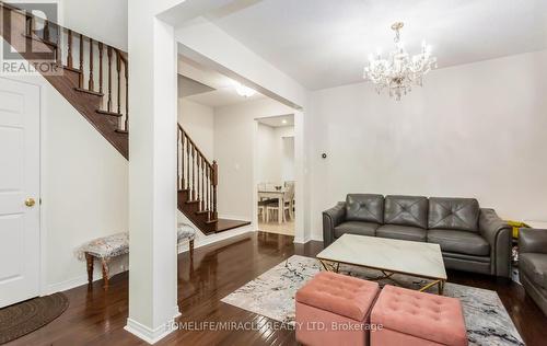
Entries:
<svg viewBox="0 0 547 346">
<path fill-rule="evenodd" d="M 511 232 L 474 198 L 353 194 L 323 212 L 325 246 L 345 233 L 437 243 L 446 268 L 505 278 Z"/>
</svg>

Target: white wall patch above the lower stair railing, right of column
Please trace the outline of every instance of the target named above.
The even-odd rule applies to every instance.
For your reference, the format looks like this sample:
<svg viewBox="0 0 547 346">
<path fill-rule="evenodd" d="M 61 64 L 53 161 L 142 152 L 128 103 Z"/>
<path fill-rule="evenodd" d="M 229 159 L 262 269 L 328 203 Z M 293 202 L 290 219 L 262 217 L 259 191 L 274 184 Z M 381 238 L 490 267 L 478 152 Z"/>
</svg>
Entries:
<svg viewBox="0 0 547 346">
<path fill-rule="evenodd" d="M 178 99 L 178 123 L 191 137 L 207 160 L 214 160 L 214 111 L 212 107 Z"/>
</svg>

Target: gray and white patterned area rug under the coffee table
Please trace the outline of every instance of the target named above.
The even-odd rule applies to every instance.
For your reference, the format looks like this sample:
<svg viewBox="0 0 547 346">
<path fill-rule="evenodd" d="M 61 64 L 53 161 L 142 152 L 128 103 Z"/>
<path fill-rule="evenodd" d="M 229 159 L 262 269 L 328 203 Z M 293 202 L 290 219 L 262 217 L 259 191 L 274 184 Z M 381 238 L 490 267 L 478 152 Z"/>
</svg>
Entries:
<svg viewBox="0 0 547 346">
<path fill-rule="evenodd" d="M 222 301 L 294 325 L 294 295 L 321 269 L 317 260 L 294 255 L 236 289 Z M 348 265 L 340 265 L 340 273 L 360 278 L 379 276 L 375 270 Z M 419 288 L 427 282 L 405 275 L 393 277 L 401 286 L 409 288 Z M 391 280 L 379 282 L 381 286 L 394 285 Z M 431 292 L 435 290 L 437 287 L 431 288 Z M 524 345 L 494 291 L 447 282 L 444 295 L 461 300 L 469 345 Z"/>
</svg>

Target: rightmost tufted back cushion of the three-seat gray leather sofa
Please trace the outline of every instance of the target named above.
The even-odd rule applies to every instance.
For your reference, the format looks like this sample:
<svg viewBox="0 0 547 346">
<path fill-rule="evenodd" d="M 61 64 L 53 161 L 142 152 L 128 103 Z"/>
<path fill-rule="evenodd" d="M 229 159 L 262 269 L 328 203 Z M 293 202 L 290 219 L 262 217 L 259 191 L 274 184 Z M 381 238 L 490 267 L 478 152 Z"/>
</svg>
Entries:
<svg viewBox="0 0 547 346">
<path fill-rule="evenodd" d="M 475 198 L 429 198 L 430 229 L 477 232 L 479 205 Z"/>
</svg>

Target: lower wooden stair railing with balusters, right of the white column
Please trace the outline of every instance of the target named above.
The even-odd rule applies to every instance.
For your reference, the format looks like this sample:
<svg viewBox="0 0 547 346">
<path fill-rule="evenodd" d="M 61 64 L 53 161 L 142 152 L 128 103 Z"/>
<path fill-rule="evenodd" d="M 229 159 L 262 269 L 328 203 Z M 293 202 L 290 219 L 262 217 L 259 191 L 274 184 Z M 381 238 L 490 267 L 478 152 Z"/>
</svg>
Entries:
<svg viewBox="0 0 547 346">
<path fill-rule="evenodd" d="M 198 210 L 206 212 L 208 220 L 217 220 L 217 186 L 219 168 L 216 161 L 207 160 L 194 140 L 177 128 L 177 188 L 187 191 L 188 201 L 198 203 Z"/>
</svg>

